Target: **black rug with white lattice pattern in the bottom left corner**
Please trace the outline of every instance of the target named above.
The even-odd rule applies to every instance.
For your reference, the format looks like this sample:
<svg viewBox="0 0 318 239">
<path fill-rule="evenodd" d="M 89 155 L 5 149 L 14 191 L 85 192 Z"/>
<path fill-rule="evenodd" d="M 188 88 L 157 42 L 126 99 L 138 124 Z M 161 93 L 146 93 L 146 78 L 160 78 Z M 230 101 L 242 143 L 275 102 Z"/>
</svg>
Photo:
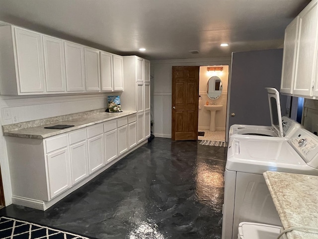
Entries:
<svg viewBox="0 0 318 239">
<path fill-rule="evenodd" d="M 73 233 L 24 222 L 12 218 L 0 218 L 1 239 L 88 239 Z"/>
</svg>

